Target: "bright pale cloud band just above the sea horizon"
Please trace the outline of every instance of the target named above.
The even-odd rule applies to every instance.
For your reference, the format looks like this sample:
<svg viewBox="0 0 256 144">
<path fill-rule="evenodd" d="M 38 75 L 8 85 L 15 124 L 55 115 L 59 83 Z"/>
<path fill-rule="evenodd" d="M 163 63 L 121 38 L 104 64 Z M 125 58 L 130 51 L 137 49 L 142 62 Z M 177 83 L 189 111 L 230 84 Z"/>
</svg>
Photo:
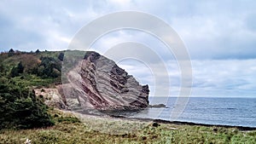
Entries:
<svg viewBox="0 0 256 144">
<path fill-rule="evenodd" d="M 192 96 L 253 97 L 256 95 L 255 62 L 256 60 L 192 60 Z M 125 71 L 137 78 L 140 83 L 148 84 L 150 96 L 179 94 L 181 75 L 175 60 L 166 63 L 167 75 L 161 69 L 152 71 L 136 60 L 122 61 L 119 66 L 125 68 Z M 168 78 L 170 85 L 165 83 Z M 156 80 L 162 82 L 158 84 L 159 87 L 155 85 Z M 167 95 L 166 91 L 169 91 Z"/>
</svg>

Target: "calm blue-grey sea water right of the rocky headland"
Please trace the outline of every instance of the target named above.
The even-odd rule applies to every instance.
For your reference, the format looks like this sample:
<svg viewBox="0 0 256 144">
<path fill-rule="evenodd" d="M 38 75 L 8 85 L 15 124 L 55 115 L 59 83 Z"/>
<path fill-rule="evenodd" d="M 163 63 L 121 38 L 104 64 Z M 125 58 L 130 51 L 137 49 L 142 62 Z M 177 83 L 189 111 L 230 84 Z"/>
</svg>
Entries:
<svg viewBox="0 0 256 144">
<path fill-rule="evenodd" d="M 157 118 L 170 121 L 193 122 L 198 124 L 220 124 L 256 127 L 256 98 L 205 98 L 192 97 L 184 103 L 185 109 L 179 117 L 171 114 L 177 98 L 149 99 L 151 104 L 166 104 L 167 108 L 148 108 L 134 113 L 133 118 Z"/>
</svg>

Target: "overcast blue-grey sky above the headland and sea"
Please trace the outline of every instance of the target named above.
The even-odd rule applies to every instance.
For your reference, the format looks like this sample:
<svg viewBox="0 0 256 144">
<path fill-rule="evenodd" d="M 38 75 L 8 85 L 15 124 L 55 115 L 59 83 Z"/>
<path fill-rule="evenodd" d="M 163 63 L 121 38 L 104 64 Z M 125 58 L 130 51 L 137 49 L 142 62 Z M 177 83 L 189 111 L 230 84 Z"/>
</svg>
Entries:
<svg viewBox="0 0 256 144">
<path fill-rule="evenodd" d="M 68 49 L 76 33 L 90 21 L 113 12 L 139 11 L 166 21 L 183 40 L 192 64 L 191 96 L 256 98 L 255 7 L 253 0 L 2 0 L 0 51 Z M 149 84 L 151 96 L 166 89 L 167 95 L 178 95 L 181 72 L 177 61 L 165 54 L 166 46 L 154 36 L 120 30 L 99 38 L 92 49 L 104 54 L 125 42 L 143 43 L 160 55 L 169 82 L 166 75 L 148 67 L 157 65 L 157 61 L 124 59 L 117 61 L 119 66 L 140 83 Z"/>
</svg>

